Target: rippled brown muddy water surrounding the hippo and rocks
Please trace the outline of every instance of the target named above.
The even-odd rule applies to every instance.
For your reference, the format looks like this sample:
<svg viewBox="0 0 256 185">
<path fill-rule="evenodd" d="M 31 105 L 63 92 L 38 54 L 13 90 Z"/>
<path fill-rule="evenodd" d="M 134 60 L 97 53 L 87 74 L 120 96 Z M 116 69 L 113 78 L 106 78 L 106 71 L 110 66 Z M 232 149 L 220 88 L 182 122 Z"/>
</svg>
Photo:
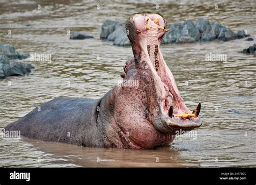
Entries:
<svg viewBox="0 0 256 185">
<path fill-rule="evenodd" d="M 41 10 L 37 10 L 38 4 Z M 0 1 L 0 42 L 14 45 L 18 51 L 52 54 L 51 63 L 30 62 L 36 67 L 31 75 L 0 80 L 0 127 L 52 98 L 99 98 L 116 86 L 132 51 L 99 39 L 106 18 L 122 21 L 134 12 L 157 11 L 168 23 L 204 17 L 233 31 L 256 35 L 253 1 L 220 1 L 218 10 L 214 4 Z M 68 30 L 85 31 L 95 39 L 69 40 Z M 241 39 L 161 46 L 188 108 L 202 103 L 204 123 L 196 136 L 177 138 L 172 146 L 140 151 L 0 138 L 0 166 L 256 167 L 255 55 L 237 53 L 253 43 Z M 227 61 L 205 61 L 210 53 L 227 54 Z"/>
</svg>

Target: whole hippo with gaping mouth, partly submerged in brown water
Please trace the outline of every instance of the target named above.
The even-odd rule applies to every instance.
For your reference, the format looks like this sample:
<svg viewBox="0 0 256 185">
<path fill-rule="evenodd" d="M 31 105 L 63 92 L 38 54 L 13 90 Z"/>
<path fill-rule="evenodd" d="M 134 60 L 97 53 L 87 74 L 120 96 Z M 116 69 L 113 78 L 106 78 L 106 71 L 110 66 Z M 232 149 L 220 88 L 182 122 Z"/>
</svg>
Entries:
<svg viewBox="0 0 256 185">
<path fill-rule="evenodd" d="M 177 133 L 201 126 L 202 120 L 201 104 L 193 111 L 187 108 L 161 54 L 160 43 L 167 31 L 166 20 L 159 13 L 134 13 L 126 22 L 134 56 L 124 65 L 122 83 L 99 99 L 52 99 L 5 130 L 84 147 L 150 149 L 170 145 Z"/>
</svg>

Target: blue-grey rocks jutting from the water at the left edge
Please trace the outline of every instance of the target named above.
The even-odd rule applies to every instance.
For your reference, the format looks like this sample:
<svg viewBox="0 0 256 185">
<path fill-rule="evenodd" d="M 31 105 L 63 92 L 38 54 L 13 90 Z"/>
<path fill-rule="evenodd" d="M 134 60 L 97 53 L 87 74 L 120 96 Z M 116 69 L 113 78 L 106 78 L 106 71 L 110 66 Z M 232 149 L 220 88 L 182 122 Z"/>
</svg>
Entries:
<svg viewBox="0 0 256 185">
<path fill-rule="evenodd" d="M 30 55 L 23 52 L 15 52 L 14 46 L 0 44 L 0 78 L 10 75 L 26 75 L 34 69 L 32 65 L 24 62 L 17 62 L 13 59 L 25 59 Z"/>
</svg>

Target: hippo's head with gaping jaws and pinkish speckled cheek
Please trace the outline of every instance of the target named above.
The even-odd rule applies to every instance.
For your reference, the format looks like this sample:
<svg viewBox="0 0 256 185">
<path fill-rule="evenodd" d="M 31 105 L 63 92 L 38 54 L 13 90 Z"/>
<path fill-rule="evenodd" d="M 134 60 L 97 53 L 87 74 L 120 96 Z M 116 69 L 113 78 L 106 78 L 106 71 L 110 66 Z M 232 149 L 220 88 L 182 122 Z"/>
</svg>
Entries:
<svg viewBox="0 0 256 185">
<path fill-rule="evenodd" d="M 170 138 L 177 131 L 190 131 L 202 124 L 200 103 L 193 112 L 187 108 L 161 54 L 160 43 L 167 31 L 166 20 L 158 13 L 135 13 L 126 22 L 134 58 L 125 63 L 121 75 L 126 86 L 119 87 L 117 119 L 120 127 L 133 132 L 137 143 L 168 143 L 165 136 Z"/>
</svg>

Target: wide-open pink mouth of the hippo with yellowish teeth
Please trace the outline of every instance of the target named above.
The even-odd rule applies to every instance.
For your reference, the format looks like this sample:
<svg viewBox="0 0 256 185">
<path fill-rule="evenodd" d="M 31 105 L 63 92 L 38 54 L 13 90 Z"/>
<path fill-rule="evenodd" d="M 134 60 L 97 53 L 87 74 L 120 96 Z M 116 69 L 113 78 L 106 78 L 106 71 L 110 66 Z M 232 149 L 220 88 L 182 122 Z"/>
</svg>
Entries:
<svg viewBox="0 0 256 185">
<path fill-rule="evenodd" d="M 177 134 L 199 127 L 201 105 L 190 111 L 179 94 L 171 70 L 166 65 L 160 51 L 166 29 L 166 20 L 158 13 L 135 13 L 126 23 L 134 59 L 126 62 L 125 73 L 129 66 L 143 69 L 144 84 L 147 91 L 147 119 L 162 133 Z M 137 67 L 136 67 L 137 66 Z M 128 75 L 128 74 L 127 74 Z M 122 75 L 126 79 L 125 75 Z"/>
</svg>

